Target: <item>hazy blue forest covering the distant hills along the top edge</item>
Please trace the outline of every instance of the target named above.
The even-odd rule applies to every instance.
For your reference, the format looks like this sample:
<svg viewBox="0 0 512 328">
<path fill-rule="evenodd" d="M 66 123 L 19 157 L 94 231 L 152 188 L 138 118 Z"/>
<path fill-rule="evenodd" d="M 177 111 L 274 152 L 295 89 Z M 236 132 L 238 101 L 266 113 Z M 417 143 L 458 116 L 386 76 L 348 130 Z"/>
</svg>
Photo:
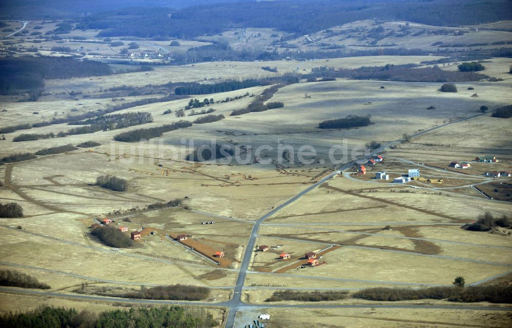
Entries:
<svg viewBox="0 0 512 328">
<path fill-rule="evenodd" d="M 454 10 L 463 8 L 464 10 Z M 250 15 L 247 13 L 251 13 Z M 171 15 L 172 14 L 172 15 Z M 294 2 L 240 2 L 202 5 L 181 10 L 131 8 L 84 17 L 77 28 L 101 29 L 100 36 L 168 36 L 193 38 L 222 33 L 237 26 L 274 28 L 310 34 L 363 19 L 409 20 L 436 26 L 458 26 L 507 20 L 506 1 L 433 0 L 421 7 L 415 1 L 297 0 Z M 126 24 L 127 19 L 130 24 Z M 236 23 L 234 23 L 236 22 Z"/>
</svg>

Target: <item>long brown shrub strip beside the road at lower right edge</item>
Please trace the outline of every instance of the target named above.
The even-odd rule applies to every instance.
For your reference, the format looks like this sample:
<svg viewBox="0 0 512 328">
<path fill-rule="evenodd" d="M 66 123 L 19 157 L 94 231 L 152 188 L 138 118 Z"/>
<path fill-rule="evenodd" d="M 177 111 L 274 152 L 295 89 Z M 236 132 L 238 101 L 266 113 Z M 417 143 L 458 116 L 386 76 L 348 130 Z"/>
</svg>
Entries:
<svg viewBox="0 0 512 328">
<path fill-rule="evenodd" d="M 424 289 L 369 288 L 354 298 L 374 301 L 402 301 L 416 299 L 447 299 L 454 302 L 512 303 L 511 286 L 430 287 Z"/>
</svg>

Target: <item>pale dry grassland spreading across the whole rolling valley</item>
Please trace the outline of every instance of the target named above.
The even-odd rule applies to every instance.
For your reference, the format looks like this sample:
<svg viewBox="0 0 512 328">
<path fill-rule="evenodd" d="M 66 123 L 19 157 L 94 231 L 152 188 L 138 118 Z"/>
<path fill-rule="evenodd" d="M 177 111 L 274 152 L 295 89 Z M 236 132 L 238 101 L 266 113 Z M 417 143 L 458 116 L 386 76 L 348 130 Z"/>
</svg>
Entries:
<svg viewBox="0 0 512 328">
<path fill-rule="evenodd" d="M 383 26 L 399 31 L 398 25 L 402 23 L 390 21 Z M 19 22 L 9 24 L 12 28 L 21 26 Z M 55 28 L 54 23 L 33 21 L 28 29 L 32 31 L 36 24 L 42 24 L 42 33 Z M 361 36 L 368 32 L 371 24 L 362 21 L 332 30 L 342 33 L 358 28 L 361 34 L 357 35 Z M 414 30 L 436 29 L 412 23 L 409 27 Z M 441 38 L 446 43 L 468 42 L 470 38 L 489 43 L 510 39 L 509 32 L 483 30 L 483 26 L 476 32 L 476 28 L 463 28 L 467 33 L 461 36 L 390 37 L 379 43 L 396 43 L 392 47 L 408 45 L 410 48 L 434 49 L 432 43 Z M 445 29 L 454 32 L 452 28 Z M 53 46 L 72 45 L 77 49 L 84 47 L 86 53 L 99 54 L 88 54 L 87 58 L 112 59 L 120 48 L 125 47 L 80 40 L 71 42 L 70 39 L 84 36 L 88 40 L 99 41 L 96 34 L 97 31 L 92 30 L 73 31 L 65 36 L 62 43 L 38 43 L 42 47 L 39 52 L 49 54 Z M 0 36 L 6 35 L 6 32 L 0 33 Z M 322 31 L 310 37 L 318 42 L 349 46 L 356 45 L 357 35 L 340 40 L 339 34 L 327 36 Z M 180 47 L 169 47 L 170 41 L 140 40 L 137 41 L 140 45 L 137 51 L 185 52 L 191 47 L 219 41 L 228 42 L 234 49 L 266 47 L 281 36 L 281 32 L 270 29 L 233 29 L 194 41 L 179 40 Z M 26 39 L 23 45 L 30 46 L 30 40 Z M 123 42 L 127 45 L 129 41 Z M 288 42 L 303 50 L 316 47 L 314 42 L 304 44 L 304 37 Z M 369 45 L 361 47 L 374 48 Z M 492 45 L 486 47 L 496 48 Z M 307 74 L 322 65 L 358 68 L 387 63 L 417 64 L 441 58 L 365 56 L 308 61 L 198 62 L 155 66 L 148 72 L 47 80 L 45 96 L 38 101 L 15 102 L 11 99 L 0 103 L 1 109 L 6 110 L 0 111 L 0 126 L 47 121 L 53 117 L 63 118 L 142 98 L 163 96 L 126 96 L 124 100 L 115 97 L 115 101 L 105 96 L 105 90 L 121 85 L 144 87 L 169 81 L 213 83 L 292 72 Z M 332 172 L 335 165 L 329 161 L 329 152 L 333 146 L 345 147 L 347 155 L 353 156 L 348 160 L 351 162 L 369 155 L 366 144 L 371 141 L 387 143 L 401 139 L 403 134 L 413 135 L 474 116 L 482 105 L 490 110 L 509 105 L 512 102 L 509 92 L 511 75 L 507 72 L 512 61 L 510 58 L 490 58 L 483 64 L 486 69 L 482 73 L 503 80 L 457 83 L 457 93 L 440 92 L 440 82 L 303 80 L 282 86 L 269 100 L 283 102 L 284 107 L 264 112 L 230 116 L 232 111 L 246 108 L 254 99 L 242 97 L 246 93 L 260 95 L 268 88 L 257 86 L 127 108 L 116 113 L 147 112 L 154 121 L 123 129 L 23 142 L 12 140 L 22 133 L 57 134 L 75 126 L 53 124 L 5 134 L 6 140 L 0 140 L 0 157 L 66 144 L 77 145 L 89 140 L 101 145 L 0 166 L 0 201 L 17 202 L 24 209 L 24 217 L 2 218 L 0 221 L 0 267 L 30 274 L 48 283 L 50 291 L 55 293 L 74 294 L 84 282 L 90 283 L 90 287 L 83 291 L 86 294 L 97 293 L 102 288 L 114 293 L 137 290 L 142 285 L 182 283 L 211 288 L 205 301 L 212 304 L 229 300 L 254 222 Z M 116 70 L 125 69 L 125 66 L 113 64 Z M 264 71 L 262 66 L 277 67 L 278 73 Z M 450 63 L 441 68 L 455 70 L 456 65 Z M 385 88 L 381 89 L 381 86 Z M 474 90 L 468 90 L 470 87 Z M 71 91 L 83 94 L 80 99 L 70 98 Z M 473 97 L 474 94 L 478 97 Z M 220 121 L 194 123 L 187 128 L 165 132 L 159 138 L 136 143 L 113 140 L 122 132 L 159 127 L 180 120 L 194 121 L 200 116 L 175 116 L 190 99 L 214 98 L 220 101 L 228 97 L 241 98 L 204 107 L 215 108 L 215 114 L 224 115 Z M 435 109 L 428 110 L 429 106 Z M 166 110 L 173 113 L 163 115 Z M 371 115 L 372 124 L 347 129 L 318 128 L 319 122 L 349 115 Z M 493 233 L 476 232 L 461 226 L 478 220 L 487 211 L 496 217 L 512 212 L 512 203 L 507 195 L 512 191 L 510 178 L 493 180 L 483 176 L 485 171 L 512 170 L 510 135 L 510 119 L 493 118 L 487 113 L 388 147 L 382 152 L 384 162 L 368 167 L 365 176 L 356 176 L 357 167 L 354 165 L 302 195 L 270 215 L 256 231 L 255 246 L 268 245 L 270 249 L 266 252 L 254 249 L 251 253 L 242 299 L 249 303 L 262 303 L 274 291 L 272 287 L 352 291 L 369 287 L 450 286 L 458 275 L 464 276 L 469 285 L 506 274 L 512 267 L 511 230 L 500 228 Z M 239 149 L 244 151 L 250 146 L 252 157 L 247 163 L 228 164 L 220 160 L 198 163 L 186 159 L 196 148 L 212 141 L 242 146 Z M 310 163 L 296 157 L 295 153 L 293 162 L 281 161 L 283 156 L 278 152 L 281 146 L 297 151 L 303 145 L 311 145 L 316 150 L 316 154 L 306 156 L 312 160 Z M 263 149 L 258 160 L 252 160 L 259 146 L 269 147 Z M 500 161 L 472 162 L 476 156 L 482 155 L 494 155 Z M 269 163 L 263 160 L 269 160 Z M 465 170 L 451 169 L 448 167 L 451 161 L 472 162 L 472 166 Z M 423 178 L 443 179 L 443 184 L 413 181 L 407 185 L 394 185 L 391 181 L 373 179 L 377 171 L 385 170 L 393 179 L 412 168 L 419 168 Z M 119 192 L 95 185 L 96 178 L 104 174 L 125 179 L 129 188 Z M 496 199 L 489 200 L 473 186 L 495 194 Z M 180 206 L 143 210 L 147 205 L 174 199 L 181 200 Z M 130 211 L 134 208 L 137 210 Z M 144 227 L 141 240 L 130 248 L 116 250 L 105 246 L 91 235 L 90 229 L 95 218 L 101 220 L 105 217 L 114 218 L 114 226 L 126 226 L 130 232 Z M 210 221 L 215 221 L 215 224 L 202 224 Z M 220 264 L 214 264 L 166 238 L 166 235 L 174 238 L 178 234 L 188 235 L 182 244 L 204 253 L 206 257 L 211 257 L 216 251 L 224 252 L 225 256 L 217 259 Z M 321 265 L 301 268 L 307 252 L 321 252 L 318 256 Z M 281 260 L 281 253 L 289 253 L 291 258 Z M 121 302 L 63 300 L 53 296 L 9 293 L 3 293 L 0 299 L 0 312 L 33 309 L 40 304 L 94 311 L 126 306 Z M 365 302 L 346 300 L 338 303 Z M 450 305 L 445 301 L 431 300 L 407 304 Z M 263 311 L 254 311 L 260 310 Z M 211 311 L 216 318 L 223 315 L 220 309 Z M 278 309 L 269 304 L 269 311 L 272 328 L 310 325 L 311 318 L 315 318 L 315 326 L 326 328 L 506 327 L 510 320 L 509 312 L 484 310 Z M 245 315 L 249 314 L 241 314 L 244 318 Z"/>
</svg>

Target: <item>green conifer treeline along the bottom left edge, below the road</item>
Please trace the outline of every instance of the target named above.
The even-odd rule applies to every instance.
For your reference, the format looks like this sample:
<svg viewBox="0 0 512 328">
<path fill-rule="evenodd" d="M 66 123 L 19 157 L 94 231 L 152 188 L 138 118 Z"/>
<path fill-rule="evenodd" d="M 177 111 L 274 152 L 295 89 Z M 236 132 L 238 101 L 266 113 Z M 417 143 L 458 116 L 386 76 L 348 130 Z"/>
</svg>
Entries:
<svg viewBox="0 0 512 328">
<path fill-rule="evenodd" d="M 155 307 L 112 310 L 101 313 L 75 309 L 40 307 L 24 313 L 0 316 L 4 328 L 210 328 L 217 326 L 202 308 Z"/>
</svg>

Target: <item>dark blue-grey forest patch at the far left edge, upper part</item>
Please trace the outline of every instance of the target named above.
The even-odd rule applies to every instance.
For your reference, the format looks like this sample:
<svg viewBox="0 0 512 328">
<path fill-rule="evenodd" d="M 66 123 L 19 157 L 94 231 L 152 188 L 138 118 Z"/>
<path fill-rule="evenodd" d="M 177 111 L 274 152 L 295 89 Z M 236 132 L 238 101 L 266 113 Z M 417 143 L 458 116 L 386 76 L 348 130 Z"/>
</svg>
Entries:
<svg viewBox="0 0 512 328">
<path fill-rule="evenodd" d="M 112 74 L 109 65 L 99 61 L 31 56 L 0 58 L 0 72 L 0 94 L 38 90 L 45 79 Z"/>
</svg>

